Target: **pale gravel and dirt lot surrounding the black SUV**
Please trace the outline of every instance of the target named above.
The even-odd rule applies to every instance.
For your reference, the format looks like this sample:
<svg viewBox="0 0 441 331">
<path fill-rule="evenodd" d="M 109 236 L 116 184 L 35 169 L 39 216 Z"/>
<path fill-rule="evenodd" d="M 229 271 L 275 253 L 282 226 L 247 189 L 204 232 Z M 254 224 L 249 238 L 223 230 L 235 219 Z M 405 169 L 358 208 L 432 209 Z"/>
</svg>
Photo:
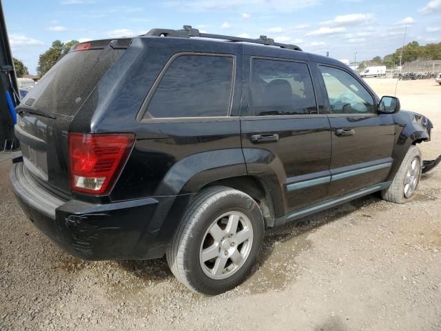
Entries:
<svg viewBox="0 0 441 331">
<path fill-rule="evenodd" d="M 395 80 L 368 79 L 378 94 Z M 441 154 L 441 86 L 400 81 L 402 109 L 427 115 Z M 243 285 L 186 290 L 165 260 L 85 262 L 25 219 L 0 161 L 0 330 L 441 330 L 441 167 L 418 197 L 377 195 L 269 232 Z"/>
</svg>

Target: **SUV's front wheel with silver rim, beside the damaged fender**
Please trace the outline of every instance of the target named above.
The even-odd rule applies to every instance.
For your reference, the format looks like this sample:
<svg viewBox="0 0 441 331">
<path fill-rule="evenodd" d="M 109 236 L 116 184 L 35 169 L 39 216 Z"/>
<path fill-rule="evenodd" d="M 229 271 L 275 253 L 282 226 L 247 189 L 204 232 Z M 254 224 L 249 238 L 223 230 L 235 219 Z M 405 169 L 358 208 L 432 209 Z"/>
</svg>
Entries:
<svg viewBox="0 0 441 331">
<path fill-rule="evenodd" d="M 422 169 L 422 156 L 420 149 L 411 146 L 402 160 L 400 168 L 389 188 L 381 191 L 382 199 L 393 203 L 406 203 L 412 201 L 420 182 Z"/>
</svg>

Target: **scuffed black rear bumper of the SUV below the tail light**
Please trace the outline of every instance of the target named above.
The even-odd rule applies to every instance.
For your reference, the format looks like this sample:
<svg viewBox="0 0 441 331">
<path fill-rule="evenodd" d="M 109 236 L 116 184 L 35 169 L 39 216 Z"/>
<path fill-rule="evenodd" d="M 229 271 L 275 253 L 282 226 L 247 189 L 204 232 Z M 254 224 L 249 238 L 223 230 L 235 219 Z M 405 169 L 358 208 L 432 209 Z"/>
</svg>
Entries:
<svg viewBox="0 0 441 331">
<path fill-rule="evenodd" d="M 173 222 L 166 229 L 163 225 L 172 205 L 182 200 L 159 197 L 105 205 L 63 201 L 42 188 L 23 163 L 12 165 L 10 182 L 30 221 L 63 250 L 86 260 L 162 257 L 174 234 Z"/>
</svg>

